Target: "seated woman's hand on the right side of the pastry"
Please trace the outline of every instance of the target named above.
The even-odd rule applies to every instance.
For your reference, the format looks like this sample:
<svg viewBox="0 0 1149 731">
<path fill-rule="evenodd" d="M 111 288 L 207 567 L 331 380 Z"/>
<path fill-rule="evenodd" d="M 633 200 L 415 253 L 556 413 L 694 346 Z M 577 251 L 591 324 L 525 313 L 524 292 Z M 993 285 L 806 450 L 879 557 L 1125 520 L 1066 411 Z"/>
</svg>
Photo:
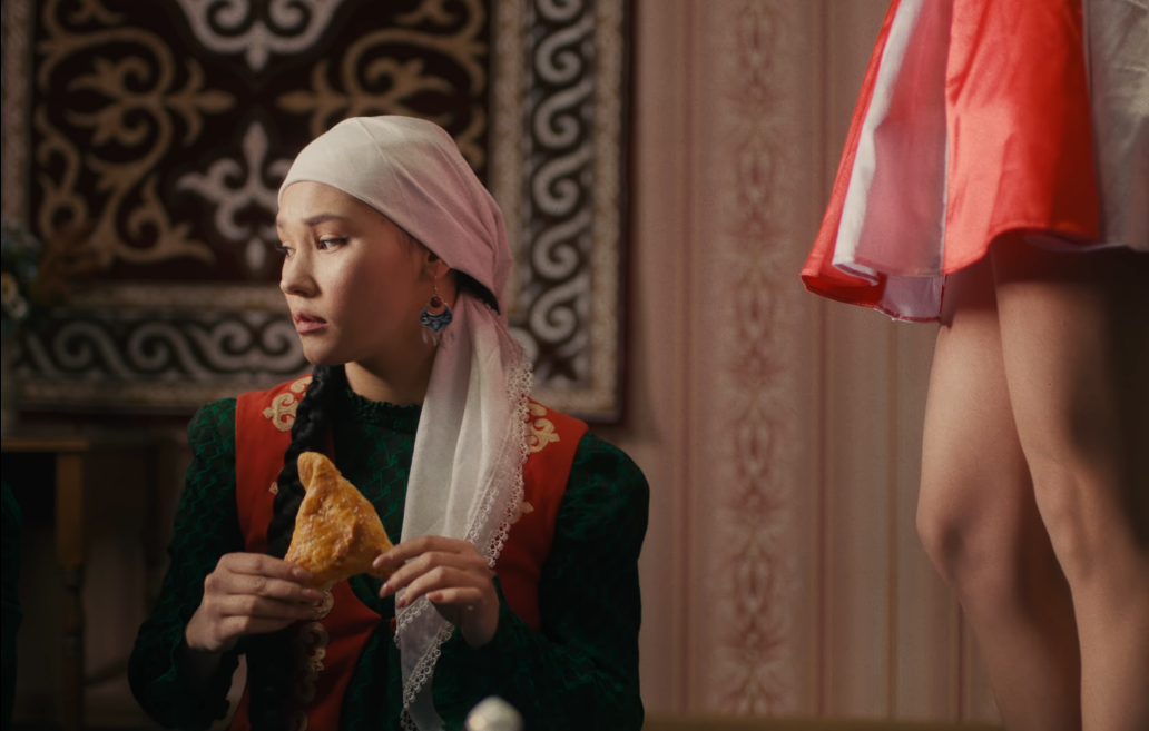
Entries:
<svg viewBox="0 0 1149 731">
<path fill-rule="evenodd" d="M 411 538 L 377 558 L 375 567 L 395 569 L 379 590 L 380 598 L 407 590 L 395 600 L 396 608 L 426 596 L 439 614 L 463 632 L 471 647 L 481 647 L 495 636 L 499 629 L 495 574 L 469 541 L 440 536 Z"/>
</svg>

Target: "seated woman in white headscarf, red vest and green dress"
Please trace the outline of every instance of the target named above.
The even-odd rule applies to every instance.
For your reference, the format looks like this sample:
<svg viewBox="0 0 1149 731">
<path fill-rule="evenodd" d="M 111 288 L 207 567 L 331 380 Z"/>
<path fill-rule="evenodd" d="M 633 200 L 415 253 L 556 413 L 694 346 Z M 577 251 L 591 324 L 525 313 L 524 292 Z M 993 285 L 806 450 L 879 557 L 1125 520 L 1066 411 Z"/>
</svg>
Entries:
<svg viewBox="0 0 1149 731">
<path fill-rule="evenodd" d="M 527 728 L 639 729 L 648 489 L 529 401 L 502 216 L 440 127 L 348 119 L 280 188 L 287 297 L 313 376 L 200 410 L 171 568 L 130 678 L 167 726 L 458 729 L 501 695 Z M 396 545 L 325 594 L 282 560 L 295 459 L 332 454 Z"/>
</svg>

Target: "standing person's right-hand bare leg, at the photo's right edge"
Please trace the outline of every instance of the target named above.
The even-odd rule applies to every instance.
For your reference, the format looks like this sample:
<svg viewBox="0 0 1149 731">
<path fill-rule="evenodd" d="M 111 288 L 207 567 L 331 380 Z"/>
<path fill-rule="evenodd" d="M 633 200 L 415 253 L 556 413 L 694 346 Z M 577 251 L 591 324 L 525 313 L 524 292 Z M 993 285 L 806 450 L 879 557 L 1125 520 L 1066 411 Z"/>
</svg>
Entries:
<svg viewBox="0 0 1149 731">
<path fill-rule="evenodd" d="M 1005 375 L 1069 580 L 1087 731 L 1149 729 L 1149 256 L 992 251 Z"/>
</svg>

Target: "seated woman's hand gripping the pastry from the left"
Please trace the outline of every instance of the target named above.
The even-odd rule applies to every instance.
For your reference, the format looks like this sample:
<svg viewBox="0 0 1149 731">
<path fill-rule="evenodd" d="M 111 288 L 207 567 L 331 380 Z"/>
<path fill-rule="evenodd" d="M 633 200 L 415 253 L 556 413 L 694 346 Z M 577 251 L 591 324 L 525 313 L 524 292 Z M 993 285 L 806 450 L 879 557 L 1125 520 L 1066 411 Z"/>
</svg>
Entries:
<svg viewBox="0 0 1149 731">
<path fill-rule="evenodd" d="M 203 599 L 185 630 L 187 647 L 223 653 L 242 635 L 275 632 L 318 616 L 318 590 L 300 582 L 310 574 L 261 553 L 228 553 L 203 580 Z"/>
</svg>

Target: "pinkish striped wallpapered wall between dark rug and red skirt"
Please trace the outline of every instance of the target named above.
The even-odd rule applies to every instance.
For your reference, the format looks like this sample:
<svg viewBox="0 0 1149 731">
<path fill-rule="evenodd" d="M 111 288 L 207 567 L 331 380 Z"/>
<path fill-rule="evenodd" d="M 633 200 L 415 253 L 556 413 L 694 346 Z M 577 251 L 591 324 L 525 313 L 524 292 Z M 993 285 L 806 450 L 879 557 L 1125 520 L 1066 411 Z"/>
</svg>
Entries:
<svg viewBox="0 0 1149 731">
<path fill-rule="evenodd" d="M 885 0 L 638 0 L 651 713 L 994 720 L 913 526 L 933 326 L 807 294 Z"/>
</svg>

